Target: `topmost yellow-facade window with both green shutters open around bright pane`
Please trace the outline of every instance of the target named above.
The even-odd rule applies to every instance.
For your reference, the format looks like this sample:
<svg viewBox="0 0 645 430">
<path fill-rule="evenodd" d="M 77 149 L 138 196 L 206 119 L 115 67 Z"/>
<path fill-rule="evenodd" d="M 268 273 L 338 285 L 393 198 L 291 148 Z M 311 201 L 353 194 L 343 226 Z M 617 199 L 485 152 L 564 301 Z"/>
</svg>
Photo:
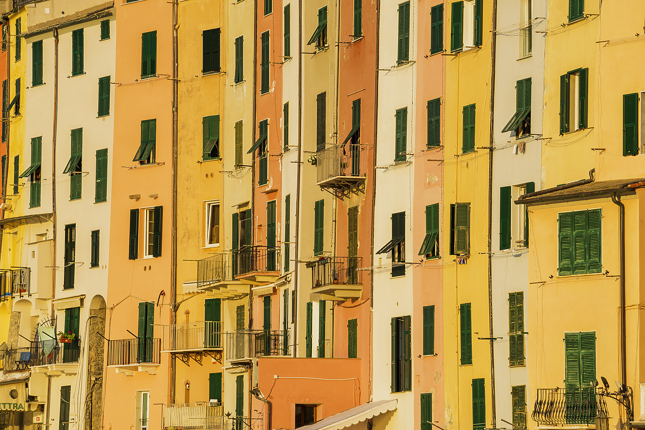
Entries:
<svg viewBox="0 0 645 430">
<path fill-rule="evenodd" d="M 461 52 L 482 44 L 482 0 L 452 3 L 450 51 Z"/>
</svg>

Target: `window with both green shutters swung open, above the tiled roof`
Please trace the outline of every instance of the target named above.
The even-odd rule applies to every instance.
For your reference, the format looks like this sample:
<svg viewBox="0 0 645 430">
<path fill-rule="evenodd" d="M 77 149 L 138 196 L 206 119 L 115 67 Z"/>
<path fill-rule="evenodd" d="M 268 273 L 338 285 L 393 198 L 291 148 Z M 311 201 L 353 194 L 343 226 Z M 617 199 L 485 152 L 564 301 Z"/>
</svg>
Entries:
<svg viewBox="0 0 645 430">
<path fill-rule="evenodd" d="M 589 69 L 581 68 L 560 77 L 560 133 L 587 127 Z"/>
</svg>

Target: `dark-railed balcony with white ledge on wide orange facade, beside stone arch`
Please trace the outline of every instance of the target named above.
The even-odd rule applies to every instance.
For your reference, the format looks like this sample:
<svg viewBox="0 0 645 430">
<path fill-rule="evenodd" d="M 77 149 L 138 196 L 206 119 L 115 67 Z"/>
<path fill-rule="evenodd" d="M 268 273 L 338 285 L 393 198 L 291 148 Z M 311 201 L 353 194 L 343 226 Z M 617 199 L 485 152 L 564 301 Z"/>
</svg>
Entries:
<svg viewBox="0 0 645 430">
<path fill-rule="evenodd" d="M 108 367 L 132 376 L 135 371 L 157 373 L 161 363 L 161 339 L 132 338 L 108 341 Z"/>
</svg>

